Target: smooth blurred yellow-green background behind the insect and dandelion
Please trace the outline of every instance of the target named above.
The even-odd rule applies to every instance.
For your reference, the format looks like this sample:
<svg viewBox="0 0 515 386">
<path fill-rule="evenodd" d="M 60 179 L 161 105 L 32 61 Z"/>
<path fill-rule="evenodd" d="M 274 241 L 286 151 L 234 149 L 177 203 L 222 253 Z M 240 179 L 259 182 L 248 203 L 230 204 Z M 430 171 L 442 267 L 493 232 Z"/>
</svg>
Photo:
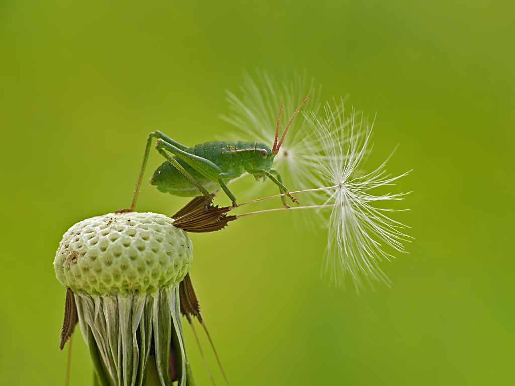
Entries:
<svg viewBox="0 0 515 386">
<path fill-rule="evenodd" d="M 130 203 L 149 131 L 186 145 L 228 135 L 226 90 L 255 68 L 305 70 L 324 99 L 377 112 L 367 165 L 399 144 L 388 171 L 414 169 L 394 187 L 413 194 L 395 218 L 415 241 L 381 265 L 391 288 L 356 294 L 320 279 L 325 234 L 294 214 L 193 235 L 193 284 L 231 384 L 515 383 L 514 4 L 0 2 L 0 384 L 64 384 L 62 234 Z M 138 209 L 184 202 L 144 184 Z M 91 384 L 78 337 L 71 384 Z"/>
</svg>

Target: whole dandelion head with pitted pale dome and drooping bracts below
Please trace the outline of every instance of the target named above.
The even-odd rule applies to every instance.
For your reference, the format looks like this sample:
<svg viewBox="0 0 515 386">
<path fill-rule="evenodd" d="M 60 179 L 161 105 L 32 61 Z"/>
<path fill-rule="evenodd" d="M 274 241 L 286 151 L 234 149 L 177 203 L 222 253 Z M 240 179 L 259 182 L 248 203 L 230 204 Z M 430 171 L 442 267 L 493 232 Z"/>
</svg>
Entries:
<svg viewBox="0 0 515 386">
<path fill-rule="evenodd" d="M 68 289 L 61 348 L 76 310 L 95 384 L 141 386 L 152 374 L 159 381 L 152 384 L 194 384 L 179 305 L 193 249 L 172 222 L 155 213 L 108 214 L 63 236 L 54 261 Z"/>
</svg>

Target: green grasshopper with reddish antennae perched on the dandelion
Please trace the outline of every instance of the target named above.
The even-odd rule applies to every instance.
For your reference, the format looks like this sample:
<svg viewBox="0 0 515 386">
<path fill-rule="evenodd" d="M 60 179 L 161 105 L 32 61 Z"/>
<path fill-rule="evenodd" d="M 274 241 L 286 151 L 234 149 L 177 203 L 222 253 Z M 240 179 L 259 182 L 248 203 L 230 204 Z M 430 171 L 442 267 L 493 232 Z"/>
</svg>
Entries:
<svg viewBox="0 0 515 386">
<path fill-rule="evenodd" d="M 209 201 L 213 200 L 210 191 L 222 188 L 232 200 L 232 205 L 237 206 L 236 197 L 227 187 L 227 183 L 235 178 L 241 177 L 245 172 L 252 174 L 256 181 L 269 178 L 279 187 L 279 191 L 288 196 L 291 201 L 297 199 L 291 196 L 288 189 L 283 185 L 279 172 L 272 169 L 273 158 L 279 152 L 283 143 L 286 131 L 295 115 L 307 101 L 310 95 L 300 104 L 295 113 L 291 116 L 283 135 L 278 143 L 279 121 L 283 103 L 279 109 L 277 119 L 276 138 L 270 149 L 267 145 L 254 141 L 212 141 L 204 142 L 192 147 L 181 145 L 160 131 L 148 135 L 143 164 L 141 166 L 138 184 L 134 191 L 134 197 L 130 208 L 118 210 L 118 213 L 132 212 L 138 199 L 143 173 L 148 161 L 150 147 L 157 138 L 156 149 L 165 157 L 166 161 L 154 172 L 151 185 L 155 185 L 159 191 L 168 192 L 175 196 L 194 197 L 204 195 Z M 169 153 L 173 154 L 171 156 Z M 274 177 L 275 176 L 275 177 Z M 284 196 L 281 197 L 283 204 L 288 207 Z"/>
</svg>

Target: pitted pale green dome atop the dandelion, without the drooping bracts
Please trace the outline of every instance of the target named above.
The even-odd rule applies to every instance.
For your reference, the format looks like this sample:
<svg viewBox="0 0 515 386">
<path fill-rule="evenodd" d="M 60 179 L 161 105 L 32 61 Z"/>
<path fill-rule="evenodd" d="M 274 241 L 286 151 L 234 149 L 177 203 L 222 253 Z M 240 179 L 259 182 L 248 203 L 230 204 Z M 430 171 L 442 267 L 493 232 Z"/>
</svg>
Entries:
<svg viewBox="0 0 515 386">
<path fill-rule="evenodd" d="M 181 282 L 193 258 L 188 235 L 156 213 L 97 216 L 63 236 L 54 267 L 74 292 L 155 291 Z"/>
</svg>

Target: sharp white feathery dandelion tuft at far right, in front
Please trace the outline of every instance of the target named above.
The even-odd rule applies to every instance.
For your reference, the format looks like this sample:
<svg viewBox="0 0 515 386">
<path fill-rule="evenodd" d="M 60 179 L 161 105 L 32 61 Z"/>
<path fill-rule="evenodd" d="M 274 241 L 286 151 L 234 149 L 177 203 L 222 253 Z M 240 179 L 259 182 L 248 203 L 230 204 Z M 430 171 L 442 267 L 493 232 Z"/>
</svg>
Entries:
<svg viewBox="0 0 515 386">
<path fill-rule="evenodd" d="M 385 161 L 371 173 L 363 173 L 372 125 L 368 126 L 363 115 L 356 121 L 354 111 L 346 118 L 342 105 L 333 110 L 328 103 L 324 110 L 324 118 L 316 114 L 308 118 L 317 136 L 318 151 L 327 161 L 315 165 L 319 186 L 338 186 L 324 191 L 324 204 L 334 204 L 324 271 L 336 285 L 342 285 L 344 276 L 350 275 L 357 290 L 363 288 L 362 277 L 370 285 L 371 279 L 388 285 L 389 279 L 377 263 L 393 257 L 386 252 L 386 245 L 403 252 L 403 242 L 409 237 L 402 232 L 405 225 L 389 217 L 397 210 L 379 208 L 376 203 L 401 200 L 404 194 L 376 196 L 371 190 L 394 185 L 409 172 L 391 177 L 386 174 Z"/>
</svg>

